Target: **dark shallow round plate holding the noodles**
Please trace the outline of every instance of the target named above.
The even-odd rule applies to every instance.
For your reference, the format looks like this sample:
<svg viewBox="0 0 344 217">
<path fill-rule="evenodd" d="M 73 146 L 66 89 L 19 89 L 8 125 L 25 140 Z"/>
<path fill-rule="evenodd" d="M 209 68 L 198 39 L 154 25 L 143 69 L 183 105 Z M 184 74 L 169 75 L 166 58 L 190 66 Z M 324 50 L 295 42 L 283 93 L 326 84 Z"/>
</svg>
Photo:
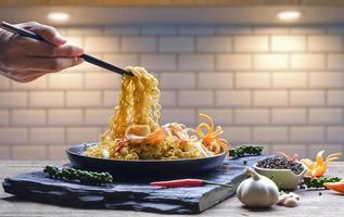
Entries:
<svg viewBox="0 0 344 217">
<path fill-rule="evenodd" d="M 94 145 L 88 143 L 87 145 Z M 85 156 L 85 144 L 66 149 L 71 165 L 80 169 L 109 171 L 116 178 L 167 178 L 190 177 L 222 165 L 226 153 L 190 159 L 107 159 Z"/>
</svg>

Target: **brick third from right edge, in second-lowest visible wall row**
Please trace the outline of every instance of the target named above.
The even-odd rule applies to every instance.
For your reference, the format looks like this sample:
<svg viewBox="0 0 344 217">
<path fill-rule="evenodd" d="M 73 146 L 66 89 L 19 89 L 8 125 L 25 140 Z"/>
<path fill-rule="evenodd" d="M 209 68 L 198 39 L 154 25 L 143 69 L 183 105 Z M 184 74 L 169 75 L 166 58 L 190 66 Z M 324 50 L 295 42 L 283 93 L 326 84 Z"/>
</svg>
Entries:
<svg viewBox="0 0 344 217">
<path fill-rule="evenodd" d="M 288 142 L 288 127 L 255 127 L 253 140 L 255 143 Z"/>
</svg>

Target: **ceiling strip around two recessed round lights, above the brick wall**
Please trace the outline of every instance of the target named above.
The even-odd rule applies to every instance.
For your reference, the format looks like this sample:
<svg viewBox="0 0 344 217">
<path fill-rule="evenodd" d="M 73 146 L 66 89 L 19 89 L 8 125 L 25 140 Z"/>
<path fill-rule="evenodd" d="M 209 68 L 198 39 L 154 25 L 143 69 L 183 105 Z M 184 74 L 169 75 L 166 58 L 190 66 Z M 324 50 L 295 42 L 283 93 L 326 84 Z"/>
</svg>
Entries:
<svg viewBox="0 0 344 217">
<path fill-rule="evenodd" d="M 344 7 L 245 7 L 245 8 L 2 8 L 0 20 L 11 23 L 46 18 L 50 11 L 66 11 L 72 20 L 53 25 L 285 25 L 276 14 L 297 9 L 303 16 L 293 25 L 344 24 Z M 288 24 L 286 24 L 288 25 Z"/>
</svg>

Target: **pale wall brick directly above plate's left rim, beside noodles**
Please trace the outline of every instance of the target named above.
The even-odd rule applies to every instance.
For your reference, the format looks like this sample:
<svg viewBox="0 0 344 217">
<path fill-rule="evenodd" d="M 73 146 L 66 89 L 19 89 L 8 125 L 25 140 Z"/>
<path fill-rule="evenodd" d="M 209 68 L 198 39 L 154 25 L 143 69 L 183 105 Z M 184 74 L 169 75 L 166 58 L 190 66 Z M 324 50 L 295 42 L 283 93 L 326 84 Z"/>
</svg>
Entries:
<svg viewBox="0 0 344 217">
<path fill-rule="evenodd" d="M 67 128 L 67 142 L 80 144 L 82 142 L 97 142 L 101 136 L 100 127 L 69 127 Z"/>
</svg>

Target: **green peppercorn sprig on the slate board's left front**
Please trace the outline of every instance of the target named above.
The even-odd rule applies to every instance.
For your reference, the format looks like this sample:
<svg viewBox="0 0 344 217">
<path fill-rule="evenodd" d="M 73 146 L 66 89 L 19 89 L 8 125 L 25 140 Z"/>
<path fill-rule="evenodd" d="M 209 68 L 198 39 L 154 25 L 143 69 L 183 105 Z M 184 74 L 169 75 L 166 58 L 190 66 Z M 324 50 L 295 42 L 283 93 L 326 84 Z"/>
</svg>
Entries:
<svg viewBox="0 0 344 217">
<path fill-rule="evenodd" d="M 113 177 L 109 173 L 87 171 L 74 168 L 58 168 L 46 166 L 44 173 L 52 179 L 77 181 L 79 183 L 101 186 L 113 182 Z"/>
</svg>

